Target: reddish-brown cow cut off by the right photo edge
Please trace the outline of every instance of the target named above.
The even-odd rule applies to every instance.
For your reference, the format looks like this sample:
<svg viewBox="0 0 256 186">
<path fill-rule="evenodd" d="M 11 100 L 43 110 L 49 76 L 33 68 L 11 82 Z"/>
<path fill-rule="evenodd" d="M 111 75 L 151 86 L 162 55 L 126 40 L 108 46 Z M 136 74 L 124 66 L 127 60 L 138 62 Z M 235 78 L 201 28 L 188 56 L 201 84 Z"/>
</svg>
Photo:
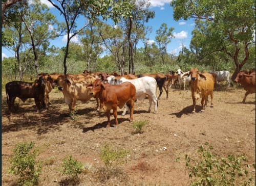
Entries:
<svg viewBox="0 0 256 186">
<path fill-rule="evenodd" d="M 255 93 L 255 72 L 251 74 L 245 74 L 243 71 L 239 72 L 234 82 L 240 83 L 246 91 L 242 101 L 242 103 L 245 103 L 247 95 Z"/>
</svg>

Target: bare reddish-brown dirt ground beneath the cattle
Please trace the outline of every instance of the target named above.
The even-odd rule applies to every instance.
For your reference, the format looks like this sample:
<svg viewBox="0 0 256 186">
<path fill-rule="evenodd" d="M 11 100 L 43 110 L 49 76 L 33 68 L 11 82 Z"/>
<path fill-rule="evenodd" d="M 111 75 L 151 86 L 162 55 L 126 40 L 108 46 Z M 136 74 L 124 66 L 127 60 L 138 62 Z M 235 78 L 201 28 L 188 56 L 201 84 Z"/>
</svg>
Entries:
<svg viewBox="0 0 256 186">
<path fill-rule="evenodd" d="M 58 170 L 67 155 L 91 167 L 80 175 L 79 185 L 187 185 L 190 179 L 185 154 L 193 153 L 205 142 L 219 156 L 244 154 L 251 165 L 255 161 L 255 95 L 248 95 L 243 104 L 244 93 L 241 87 L 219 85 L 214 92 L 214 108 L 207 107 L 200 113 L 198 100 L 195 114 L 191 114 L 190 90 L 172 88 L 168 99 L 163 92 L 157 114 L 146 112 L 147 99 L 139 100 L 135 103 L 134 121 L 147 120 L 148 124 L 142 134 L 133 135 L 129 115 L 121 116 L 122 110 L 118 112 L 119 126 L 105 128 L 106 116 L 96 112 L 95 99 L 78 102 L 77 119 L 72 120 L 67 117 L 68 105 L 62 93 L 54 89 L 49 111 L 36 113 L 31 99 L 20 101 L 18 112 L 7 116 L 3 92 L 2 185 L 15 185 L 15 176 L 8 173 L 8 160 L 15 144 L 29 141 L 40 148 L 38 158 L 45 162 L 39 185 L 59 185 L 65 176 Z M 130 156 L 127 163 L 119 165 L 123 176 L 102 182 L 95 175 L 103 166 L 99 151 L 104 143 L 129 150 Z M 47 164 L 50 159 L 53 163 Z M 249 173 L 255 176 L 252 166 Z"/>
</svg>

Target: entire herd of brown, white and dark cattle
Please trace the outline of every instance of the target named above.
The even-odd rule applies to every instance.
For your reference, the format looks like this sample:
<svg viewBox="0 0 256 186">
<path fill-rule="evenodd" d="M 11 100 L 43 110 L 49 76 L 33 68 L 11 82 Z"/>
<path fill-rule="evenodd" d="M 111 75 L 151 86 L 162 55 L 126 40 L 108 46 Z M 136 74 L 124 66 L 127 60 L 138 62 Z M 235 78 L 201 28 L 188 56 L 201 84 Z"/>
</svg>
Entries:
<svg viewBox="0 0 256 186">
<path fill-rule="evenodd" d="M 221 81 L 227 81 L 228 87 L 230 81 L 229 71 L 200 72 L 197 68 L 191 68 L 190 71 L 183 72 L 178 69 L 177 72 L 170 70 L 170 74 L 163 73 L 144 73 L 120 75 L 116 72 L 111 74 L 105 72 L 89 72 L 84 70 L 79 74 L 60 74 L 60 73 L 40 73 L 39 78 L 34 82 L 12 81 L 6 84 L 6 96 L 8 104 L 8 114 L 14 112 L 14 101 L 18 97 L 25 102 L 28 98 L 34 98 L 37 111 L 49 108 L 49 93 L 58 86 L 62 91 L 66 104 L 69 105 L 69 111 L 75 110 L 77 100 L 82 102 L 89 101 L 92 97 L 97 100 L 97 110 L 103 109 L 108 117 L 110 126 L 110 114 L 113 110 L 115 125 L 117 121 L 117 107 L 124 107 L 122 115 L 126 110 L 130 112 L 130 121 L 133 120 L 134 102 L 136 99 L 149 100 L 148 112 L 151 112 L 152 102 L 154 103 L 154 113 L 157 112 L 158 100 L 163 92 L 166 92 L 174 85 L 186 90 L 187 84 L 190 84 L 191 97 L 193 99 L 193 113 L 196 111 L 196 100 L 201 98 L 201 112 L 207 105 L 208 96 L 211 98 L 213 106 L 214 87 Z M 255 70 L 240 71 L 234 80 L 246 90 L 243 103 L 248 94 L 255 93 Z M 159 95 L 156 95 L 159 88 Z"/>
</svg>

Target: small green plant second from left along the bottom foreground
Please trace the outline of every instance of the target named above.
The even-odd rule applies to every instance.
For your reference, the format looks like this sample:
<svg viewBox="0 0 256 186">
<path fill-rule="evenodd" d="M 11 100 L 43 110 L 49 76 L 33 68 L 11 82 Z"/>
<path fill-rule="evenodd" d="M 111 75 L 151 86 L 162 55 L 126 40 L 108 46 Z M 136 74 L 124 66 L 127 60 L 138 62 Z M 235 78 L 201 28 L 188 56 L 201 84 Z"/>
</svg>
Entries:
<svg viewBox="0 0 256 186">
<path fill-rule="evenodd" d="M 71 178 L 78 178 L 78 175 L 83 171 L 81 162 L 75 160 L 71 155 L 68 155 L 62 162 L 62 174 L 68 175 Z"/>
</svg>

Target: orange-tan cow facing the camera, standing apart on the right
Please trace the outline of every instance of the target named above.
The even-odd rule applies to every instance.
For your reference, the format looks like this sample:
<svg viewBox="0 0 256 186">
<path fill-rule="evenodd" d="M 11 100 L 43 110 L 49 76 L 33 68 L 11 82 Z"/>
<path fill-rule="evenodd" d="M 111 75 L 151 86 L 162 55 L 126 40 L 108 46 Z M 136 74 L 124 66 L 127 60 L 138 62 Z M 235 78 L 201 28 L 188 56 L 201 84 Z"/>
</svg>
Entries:
<svg viewBox="0 0 256 186">
<path fill-rule="evenodd" d="M 204 111 L 205 106 L 207 105 L 208 95 L 211 98 L 211 107 L 214 105 L 214 77 L 208 73 L 201 73 L 197 68 L 191 68 L 189 72 L 184 73 L 185 75 L 191 75 L 191 94 L 193 99 L 193 112 L 196 112 L 196 99 L 201 99 L 201 112 Z"/>
</svg>

